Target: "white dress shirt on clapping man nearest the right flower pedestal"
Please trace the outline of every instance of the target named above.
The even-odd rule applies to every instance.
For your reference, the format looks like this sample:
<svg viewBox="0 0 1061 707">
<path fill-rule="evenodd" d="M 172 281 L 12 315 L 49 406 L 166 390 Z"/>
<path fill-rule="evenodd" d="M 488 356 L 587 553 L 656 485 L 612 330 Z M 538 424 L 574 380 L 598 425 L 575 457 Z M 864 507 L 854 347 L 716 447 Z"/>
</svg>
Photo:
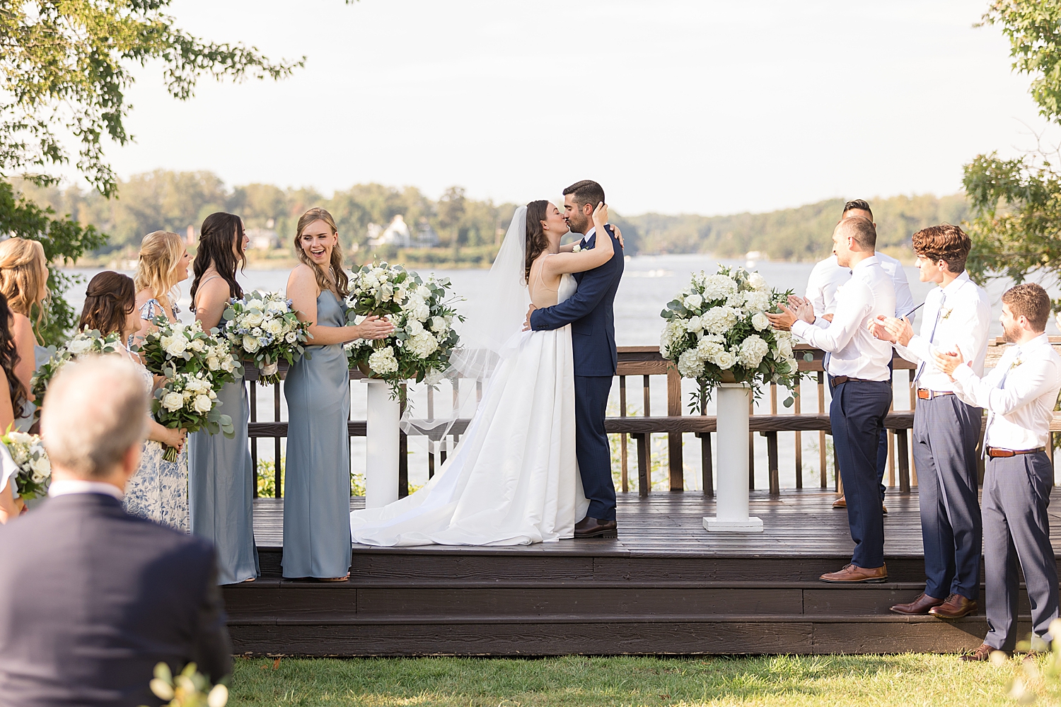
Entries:
<svg viewBox="0 0 1061 707">
<path fill-rule="evenodd" d="M 873 338 L 869 322 L 877 315 L 895 312 L 895 290 L 891 278 L 870 255 L 855 265 L 851 279 L 836 293 L 832 323 L 817 319 L 808 324 L 798 319 L 793 334 L 818 349 L 830 352 L 830 375 L 847 375 L 866 381 L 890 381 L 888 363 L 891 344 Z"/>
</svg>

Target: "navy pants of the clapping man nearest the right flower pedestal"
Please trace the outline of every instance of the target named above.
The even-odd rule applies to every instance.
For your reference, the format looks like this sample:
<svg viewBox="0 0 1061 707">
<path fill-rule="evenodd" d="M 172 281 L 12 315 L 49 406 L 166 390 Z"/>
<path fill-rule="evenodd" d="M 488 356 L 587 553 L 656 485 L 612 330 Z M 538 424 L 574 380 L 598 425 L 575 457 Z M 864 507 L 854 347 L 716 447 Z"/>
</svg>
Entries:
<svg viewBox="0 0 1061 707">
<path fill-rule="evenodd" d="M 851 563 L 857 567 L 884 565 L 884 514 L 876 457 L 890 406 L 890 381 L 848 381 L 834 387 L 829 408 L 833 446 L 848 502 L 848 525 L 855 542 Z"/>
</svg>

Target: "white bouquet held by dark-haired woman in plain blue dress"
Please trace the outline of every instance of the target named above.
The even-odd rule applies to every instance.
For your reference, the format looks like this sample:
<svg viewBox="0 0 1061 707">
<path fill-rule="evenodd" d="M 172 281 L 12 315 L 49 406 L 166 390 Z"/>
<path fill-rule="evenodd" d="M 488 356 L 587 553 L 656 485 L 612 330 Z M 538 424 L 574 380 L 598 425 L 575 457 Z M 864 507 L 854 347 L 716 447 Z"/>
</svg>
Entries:
<svg viewBox="0 0 1061 707">
<path fill-rule="evenodd" d="M 242 300 L 233 299 L 222 316 L 232 350 L 258 365 L 261 383 L 278 383 L 278 361 L 282 358 L 290 366 L 306 353 L 310 323 L 300 321 L 291 300 L 279 293 L 256 289 Z"/>
</svg>

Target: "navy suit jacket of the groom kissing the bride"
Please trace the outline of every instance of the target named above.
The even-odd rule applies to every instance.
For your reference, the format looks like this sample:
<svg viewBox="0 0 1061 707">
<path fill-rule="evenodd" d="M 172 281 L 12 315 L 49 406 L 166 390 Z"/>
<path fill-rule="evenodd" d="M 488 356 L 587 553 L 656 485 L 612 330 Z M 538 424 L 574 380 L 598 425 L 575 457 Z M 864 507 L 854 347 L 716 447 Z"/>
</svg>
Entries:
<svg viewBox="0 0 1061 707">
<path fill-rule="evenodd" d="M 586 272 L 575 272 L 578 291 L 570 299 L 530 314 L 534 331 L 560 329 L 571 324 L 571 349 L 575 375 L 615 375 L 619 354 L 615 351 L 615 313 L 612 304 L 619 281 L 623 278 L 623 249 L 614 231 L 605 226 L 615 254 L 604 265 Z M 594 231 L 585 247 L 596 245 Z"/>
</svg>

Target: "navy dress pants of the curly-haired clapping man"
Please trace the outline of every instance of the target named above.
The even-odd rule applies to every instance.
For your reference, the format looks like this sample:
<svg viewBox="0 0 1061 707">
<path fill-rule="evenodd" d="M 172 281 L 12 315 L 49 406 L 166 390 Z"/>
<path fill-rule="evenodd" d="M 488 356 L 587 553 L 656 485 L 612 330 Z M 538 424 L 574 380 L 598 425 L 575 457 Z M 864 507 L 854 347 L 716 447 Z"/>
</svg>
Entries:
<svg viewBox="0 0 1061 707">
<path fill-rule="evenodd" d="M 919 400 L 914 412 L 914 462 L 918 467 L 925 594 L 943 599 L 980 591 L 980 503 L 976 443 L 980 408 L 957 395 Z"/>
</svg>

